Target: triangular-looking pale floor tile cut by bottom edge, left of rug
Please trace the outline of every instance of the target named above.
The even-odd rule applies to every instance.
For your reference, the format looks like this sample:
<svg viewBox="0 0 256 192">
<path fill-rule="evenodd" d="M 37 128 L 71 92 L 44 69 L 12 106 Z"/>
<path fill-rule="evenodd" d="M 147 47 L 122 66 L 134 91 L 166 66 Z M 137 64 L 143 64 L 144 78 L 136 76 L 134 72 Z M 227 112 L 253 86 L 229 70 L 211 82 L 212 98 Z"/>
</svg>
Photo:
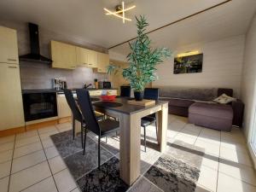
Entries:
<svg viewBox="0 0 256 192">
<path fill-rule="evenodd" d="M 43 181 L 22 190 L 22 192 L 57 192 L 53 177 L 48 177 Z"/>
</svg>

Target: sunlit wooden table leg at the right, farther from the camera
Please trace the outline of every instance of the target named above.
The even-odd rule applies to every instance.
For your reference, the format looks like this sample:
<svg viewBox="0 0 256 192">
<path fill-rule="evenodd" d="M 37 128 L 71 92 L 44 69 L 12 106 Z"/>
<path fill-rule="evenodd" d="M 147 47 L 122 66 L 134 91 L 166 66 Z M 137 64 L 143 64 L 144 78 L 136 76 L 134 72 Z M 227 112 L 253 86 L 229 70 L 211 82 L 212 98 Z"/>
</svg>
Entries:
<svg viewBox="0 0 256 192">
<path fill-rule="evenodd" d="M 162 105 L 162 110 L 158 112 L 158 135 L 157 140 L 160 145 L 160 152 L 166 150 L 166 137 L 168 126 L 168 103 Z"/>
</svg>

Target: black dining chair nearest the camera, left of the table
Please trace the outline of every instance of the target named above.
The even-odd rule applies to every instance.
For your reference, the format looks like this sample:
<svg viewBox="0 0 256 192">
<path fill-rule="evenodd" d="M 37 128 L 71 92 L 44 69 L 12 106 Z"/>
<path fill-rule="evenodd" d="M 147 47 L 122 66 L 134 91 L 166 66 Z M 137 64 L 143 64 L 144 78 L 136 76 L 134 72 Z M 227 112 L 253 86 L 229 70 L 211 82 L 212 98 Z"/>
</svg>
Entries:
<svg viewBox="0 0 256 192">
<path fill-rule="evenodd" d="M 90 102 L 90 95 L 88 90 L 77 90 L 78 102 L 85 121 L 84 134 L 84 154 L 86 143 L 87 129 L 94 132 L 98 136 L 98 166 L 101 165 L 101 138 L 107 137 L 109 134 L 119 130 L 119 121 L 113 119 L 103 119 L 97 121 L 96 115 L 93 111 Z"/>
</svg>

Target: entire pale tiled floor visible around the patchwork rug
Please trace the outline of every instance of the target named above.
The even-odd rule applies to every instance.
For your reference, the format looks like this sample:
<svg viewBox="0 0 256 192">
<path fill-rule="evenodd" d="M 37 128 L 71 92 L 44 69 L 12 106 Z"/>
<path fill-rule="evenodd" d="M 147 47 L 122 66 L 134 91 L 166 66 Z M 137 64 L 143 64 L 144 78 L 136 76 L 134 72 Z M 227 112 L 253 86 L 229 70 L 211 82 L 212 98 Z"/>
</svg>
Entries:
<svg viewBox="0 0 256 192">
<path fill-rule="evenodd" d="M 70 129 L 71 125 L 65 123 L 0 138 L 0 191 L 79 191 L 49 137 Z M 150 143 L 155 143 L 154 126 L 148 127 L 147 141 L 147 153 L 142 146 L 142 173 L 160 157 L 150 148 Z M 255 171 L 239 129 L 213 131 L 169 115 L 167 142 L 166 154 L 201 170 L 195 191 L 256 191 Z M 117 139 L 108 138 L 108 145 L 102 146 L 119 157 Z M 159 191 L 154 183 L 147 187 L 148 191 Z"/>
</svg>

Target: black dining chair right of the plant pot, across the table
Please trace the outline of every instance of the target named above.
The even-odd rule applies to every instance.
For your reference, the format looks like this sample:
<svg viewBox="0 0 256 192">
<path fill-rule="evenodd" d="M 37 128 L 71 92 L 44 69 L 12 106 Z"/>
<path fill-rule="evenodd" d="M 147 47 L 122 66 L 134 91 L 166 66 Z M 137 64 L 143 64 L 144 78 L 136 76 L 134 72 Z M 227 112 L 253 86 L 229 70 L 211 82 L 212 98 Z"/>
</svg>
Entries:
<svg viewBox="0 0 256 192">
<path fill-rule="evenodd" d="M 158 100 L 159 99 L 159 90 L 158 88 L 145 88 L 144 90 L 144 99 L 148 100 Z M 155 113 L 149 114 L 146 117 L 143 117 L 141 120 L 141 126 L 144 129 L 144 148 L 145 152 L 147 152 L 147 145 L 146 145 L 146 128 L 148 125 L 153 124 L 155 125 L 155 132 L 156 132 L 156 137 L 157 137 L 157 121 L 156 121 L 156 116 Z"/>
</svg>

